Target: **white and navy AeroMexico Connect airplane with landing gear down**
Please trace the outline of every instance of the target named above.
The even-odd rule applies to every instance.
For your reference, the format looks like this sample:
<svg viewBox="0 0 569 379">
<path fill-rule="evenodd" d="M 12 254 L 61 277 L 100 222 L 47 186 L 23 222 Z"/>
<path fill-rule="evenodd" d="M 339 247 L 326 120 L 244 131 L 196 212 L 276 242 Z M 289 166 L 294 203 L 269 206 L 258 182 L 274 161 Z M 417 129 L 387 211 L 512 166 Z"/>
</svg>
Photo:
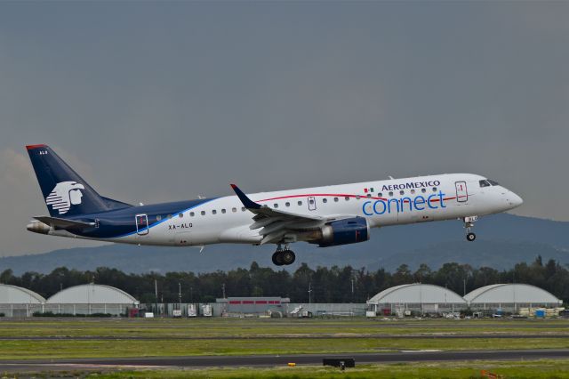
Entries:
<svg viewBox="0 0 569 379">
<path fill-rule="evenodd" d="M 99 195 L 47 145 L 28 145 L 48 215 L 36 233 L 150 246 L 275 244 L 272 261 L 292 264 L 294 242 L 321 247 L 367 241 L 372 228 L 461 220 L 466 239 L 479 216 L 522 205 L 496 181 L 472 173 L 365 181 L 132 206 Z"/>
</svg>

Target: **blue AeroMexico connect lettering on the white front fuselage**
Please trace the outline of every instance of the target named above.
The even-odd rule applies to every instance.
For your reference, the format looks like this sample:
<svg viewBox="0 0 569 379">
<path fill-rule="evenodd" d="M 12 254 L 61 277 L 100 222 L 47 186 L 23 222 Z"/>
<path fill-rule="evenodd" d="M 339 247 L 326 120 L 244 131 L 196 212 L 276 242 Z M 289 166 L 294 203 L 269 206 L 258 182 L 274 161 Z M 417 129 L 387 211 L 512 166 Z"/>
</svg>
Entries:
<svg viewBox="0 0 569 379">
<path fill-rule="evenodd" d="M 382 190 L 437 187 L 440 183 L 440 181 L 413 181 L 405 184 L 383 185 Z M 445 207 L 445 193 L 443 193 L 442 190 L 439 190 L 429 196 L 425 194 L 425 196 L 417 195 L 413 198 L 380 198 L 375 201 L 366 201 L 362 205 L 362 212 L 366 216 L 372 216 L 373 214 L 390 214 L 392 212 L 404 213 Z"/>
</svg>

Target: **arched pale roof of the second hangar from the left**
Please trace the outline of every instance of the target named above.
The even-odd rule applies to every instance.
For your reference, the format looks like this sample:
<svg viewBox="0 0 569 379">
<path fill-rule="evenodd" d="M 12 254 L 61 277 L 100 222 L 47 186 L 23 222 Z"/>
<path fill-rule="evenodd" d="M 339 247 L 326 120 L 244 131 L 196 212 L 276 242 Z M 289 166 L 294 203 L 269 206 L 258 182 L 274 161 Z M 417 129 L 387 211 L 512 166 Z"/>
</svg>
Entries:
<svg viewBox="0 0 569 379">
<path fill-rule="evenodd" d="M 114 286 L 70 286 L 47 299 L 48 304 L 132 304 L 137 300 Z"/>
</svg>

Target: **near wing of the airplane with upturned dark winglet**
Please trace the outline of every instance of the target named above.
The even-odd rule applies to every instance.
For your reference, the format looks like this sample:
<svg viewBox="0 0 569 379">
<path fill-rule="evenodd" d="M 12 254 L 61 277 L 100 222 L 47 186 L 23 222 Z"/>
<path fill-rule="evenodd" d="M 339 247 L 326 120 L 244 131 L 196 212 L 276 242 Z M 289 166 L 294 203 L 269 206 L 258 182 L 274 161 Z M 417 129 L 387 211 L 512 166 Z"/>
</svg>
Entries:
<svg viewBox="0 0 569 379">
<path fill-rule="evenodd" d="M 326 219 L 309 214 L 293 214 L 269 208 L 268 206 L 261 206 L 248 198 L 235 184 L 231 184 L 231 188 L 235 191 L 244 207 L 255 214 L 252 218 L 253 223 L 249 228 L 252 230 L 260 229 L 259 233 L 263 237 L 260 245 L 269 242 L 278 243 L 287 233 L 300 230 L 316 230 L 324 225 L 325 222 L 336 219 Z"/>
</svg>

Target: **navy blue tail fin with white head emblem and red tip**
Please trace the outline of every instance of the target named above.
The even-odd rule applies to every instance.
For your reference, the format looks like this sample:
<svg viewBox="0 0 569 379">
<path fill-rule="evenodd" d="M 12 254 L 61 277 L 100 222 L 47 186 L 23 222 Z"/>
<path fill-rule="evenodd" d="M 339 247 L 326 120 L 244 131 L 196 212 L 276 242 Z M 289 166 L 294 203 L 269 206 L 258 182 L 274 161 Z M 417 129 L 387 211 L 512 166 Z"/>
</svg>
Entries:
<svg viewBox="0 0 569 379">
<path fill-rule="evenodd" d="M 101 197 L 47 145 L 28 145 L 45 204 L 53 217 L 96 214 L 131 206 Z"/>
</svg>

